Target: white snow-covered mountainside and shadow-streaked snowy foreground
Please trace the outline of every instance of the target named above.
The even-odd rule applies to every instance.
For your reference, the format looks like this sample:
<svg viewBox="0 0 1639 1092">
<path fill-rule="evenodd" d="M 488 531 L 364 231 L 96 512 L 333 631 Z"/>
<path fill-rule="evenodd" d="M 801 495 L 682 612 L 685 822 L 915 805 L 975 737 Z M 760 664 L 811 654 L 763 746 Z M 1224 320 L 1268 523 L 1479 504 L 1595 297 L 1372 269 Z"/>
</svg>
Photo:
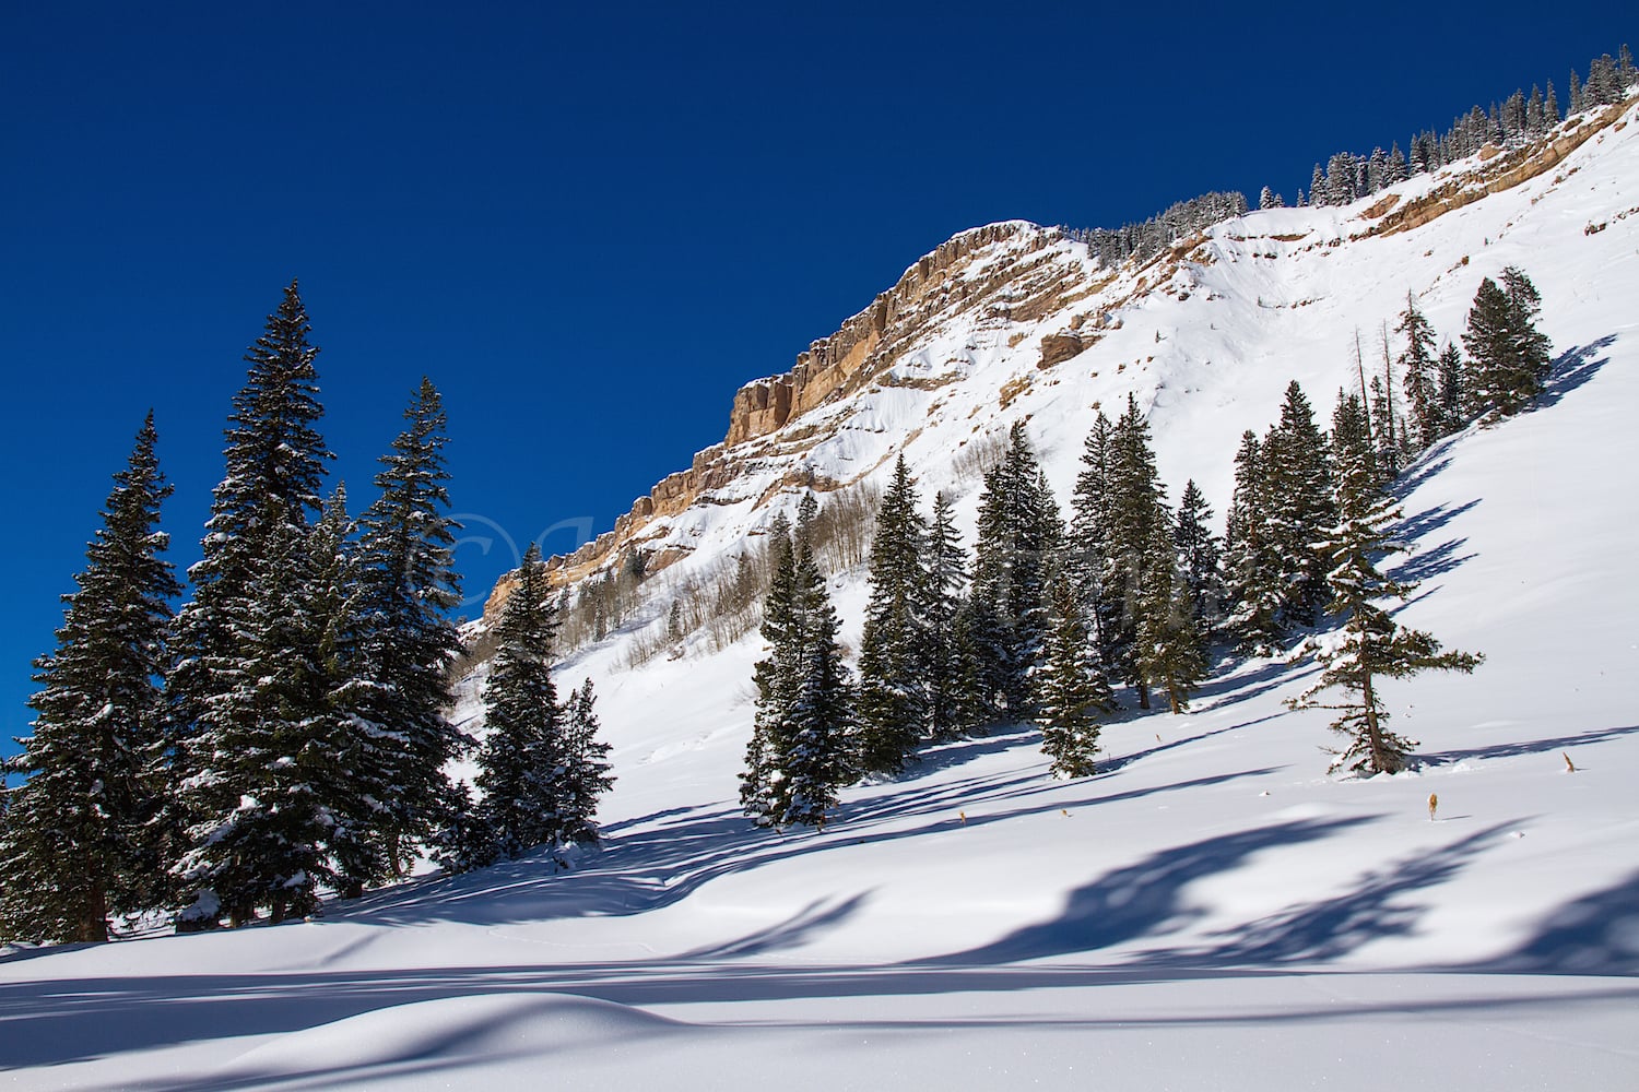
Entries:
<svg viewBox="0 0 1639 1092">
<path fill-rule="evenodd" d="M 1408 182 L 1395 205 L 1483 185 L 1480 170 Z M 918 329 L 885 316 L 879 345 L 898 355 L 747 426 L 703 463 L 733 473 L 674 494 L 710 503 L 652 508 L 606 544 L 674 550 L 646 609 L 565 665 L 565 681 L 597 679 L 615 745 L 602 851 L 428 878 L 313 923 L 11 956 L 7 1076 L 1639 1085 L 1639 108 L 1410 231 L 1372 234 L 1393 210 L 1367 210 L 1249 214 L 1115 280 L 1037 229 L 992 232 L 946 267 L 957 287 Z M 1423 742 L 1416 773 L 1326 776 L 1326 715 L 1282 704 L 1311 670 L 1252 661 L 1187 715 L 1106 727 L 1096 778 L 1052 781 L 1031 732 L 1000 732 L 849 789 L 824 832 L 777 835 L 734 805 L 756 637 L 624 666 L 665 589 L 744 548 L 782 490 L 882 475 L 903 450 L 924 496 L 954 490 L 970 521 L 962 452 L 1015 419 L 1062 498 L 1092 408 L 1133 393 L 1174 498 L 1195 476 L 1221 511 L 1241 431 L 1275 416 L 1288 380 L 1324 413 L 1352 385 L 1357 329 L 1370 362 L 1411 291 L 1455 337 L 1480 277 L 1510 264 L 1542 293 L 1557 365 L 1541 408 L 1408 473 L 1418 550 L 1401 565 L 1424 583 L 1401 617 L 1487 653 L 1470 678 L 1390 684 L 1396 727 Z M 1019 321 L 995 296 L 1021 278 L 1088 295 Z M 1083 313 L 1092 344 L 1037 367 Z M 857 632 L 862 576 L 833 589 Z"/>
</svg>

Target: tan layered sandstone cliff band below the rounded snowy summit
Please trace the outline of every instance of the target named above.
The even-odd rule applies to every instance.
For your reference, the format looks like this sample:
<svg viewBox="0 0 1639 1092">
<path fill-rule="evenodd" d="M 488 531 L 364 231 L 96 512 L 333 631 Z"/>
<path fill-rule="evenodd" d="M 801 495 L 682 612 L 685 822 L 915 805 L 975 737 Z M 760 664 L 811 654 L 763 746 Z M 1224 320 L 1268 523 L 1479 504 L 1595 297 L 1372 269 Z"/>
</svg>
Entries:
<svg viewBox="0 0 1639 1092">
<path fill-rule="evenodd" d="M 805 414 L 882 378 L 931 326 L 975 308 L 998 321 L 1029 323 L 1085 295 L 1092 273 L 1085 260 L 1067 260 L 1056 231 L 1023 221 L 988 224 L 949 239 L 841 329 L 810 344 L 790 372 L 742 386 L 734 395 L 723 442 L 698 452 L 688 470 L 662 478 L 613 529 L 567 557 L 551 558 L 554 583 L 574 583 L 623 550 L 641 548 L 657 521 L 710 503 L 713 491 L 729 486 L 767 452 L 767 444 L 780 444 L 788 453 L 803 442 Z M 1052 350 L 1057 360 L 1067 359 L 1065 347 Z M 841 483 L 810 485 L 824 490 Z M 675 547 L 657 550 L 647 558 L 649 571 L 679 557 Z M 497 583 L 484 607 L 487 619 L 497 616 L 511 588 L 510 578 Z"/>
</svg>

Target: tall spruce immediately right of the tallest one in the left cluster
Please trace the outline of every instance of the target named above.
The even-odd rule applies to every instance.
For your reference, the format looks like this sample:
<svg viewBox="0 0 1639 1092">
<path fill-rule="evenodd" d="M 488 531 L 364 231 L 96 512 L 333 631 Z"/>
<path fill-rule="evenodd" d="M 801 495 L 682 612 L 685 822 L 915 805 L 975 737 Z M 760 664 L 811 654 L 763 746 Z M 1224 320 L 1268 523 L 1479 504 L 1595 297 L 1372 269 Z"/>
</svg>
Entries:
<svg viewBox="0 0 1639 1092">
<path fill-rule="evenodd" d="M 449 517 L 444 408 L 429 380 L 421 380 L 405 421 L 375 475 L 380 496 L 361 521 L 364 634 L 356 675 L 367 688 L 352 750 L 370 751 L 375 779 L 364 799 L 374 814 L 357 819 L 375 830 L 375 846 L 349 873 L 354 891 L 400 873 L 413 842 L 436 828 L 451 794 L 444 765 L 470 745 L 444 715 L 452 704 L 449 668 L 461 655 L 449 619 L 461 601 L 459 524 Z"/>
</svg>

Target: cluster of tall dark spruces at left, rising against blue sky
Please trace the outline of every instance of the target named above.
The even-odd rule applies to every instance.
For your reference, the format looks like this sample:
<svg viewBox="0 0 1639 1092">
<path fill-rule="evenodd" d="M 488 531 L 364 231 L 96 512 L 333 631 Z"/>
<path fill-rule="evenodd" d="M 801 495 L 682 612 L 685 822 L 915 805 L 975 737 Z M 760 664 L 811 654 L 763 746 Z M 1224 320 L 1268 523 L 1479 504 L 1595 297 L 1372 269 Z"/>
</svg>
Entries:
<svg viewBox="0 0 1639 1092">
<path fill-rule="evenodd" d="M 461 640 L 438 391 L 421 381 L 357 519 L 329 452 L 297 285 L 246 354 L 226 473 L 184 594 L 159 530 L 152 414 L 115 475 L 57 647 L 36 660 L 26 781 L 0 822 L 0 941 L 98 941 L 111 915 L 279 922 L 402 876 L 597 838 L 608 745 L 590 683 L 559 701 L 539 553 L 500 624 L 482 801 L 446 776 Z"/>
</svg>

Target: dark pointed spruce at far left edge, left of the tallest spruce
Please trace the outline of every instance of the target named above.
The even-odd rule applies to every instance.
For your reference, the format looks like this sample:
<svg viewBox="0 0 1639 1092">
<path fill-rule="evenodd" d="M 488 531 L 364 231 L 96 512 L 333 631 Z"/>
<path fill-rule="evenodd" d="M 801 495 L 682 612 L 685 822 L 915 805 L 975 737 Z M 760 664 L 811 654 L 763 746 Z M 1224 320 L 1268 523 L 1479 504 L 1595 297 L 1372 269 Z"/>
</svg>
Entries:
<svg viewBox="0 0 1639 1092">
<path fill-rule="evenodd" d="M 34 661 L 41 691 L 23 753 L 31 773 L 10 794 L 0 832 L 0 935 L 102 941 L 111 912 L 154 904 L 157 810 L 152 765 L 162 745 L 169 599 L 182 588 L 161 555 L 161 503 L 170 496 L 154 453 L 154 414 L 85 550 L 85 570 L 57 629 L 57 650 Z M 3 778 L 3 771 L 0 771 Z M 0 792 L 0 796 L 5 796 Z"/>
</svg>

